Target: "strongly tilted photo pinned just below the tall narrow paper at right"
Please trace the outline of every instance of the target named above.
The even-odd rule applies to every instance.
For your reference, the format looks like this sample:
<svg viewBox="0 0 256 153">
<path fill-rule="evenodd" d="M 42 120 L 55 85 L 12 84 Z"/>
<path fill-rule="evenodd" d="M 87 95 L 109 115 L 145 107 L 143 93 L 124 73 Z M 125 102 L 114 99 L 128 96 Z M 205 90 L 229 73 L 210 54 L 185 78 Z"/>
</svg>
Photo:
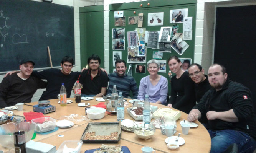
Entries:
<svg viewBox="0 0 256 153">
<path fill-rule="evenodd" d="M 171 47 L 179 54 L 182 55 L 189 45 L 182 40 L 183 33 L 176 33 L 171 40 Z"/>
</svg>

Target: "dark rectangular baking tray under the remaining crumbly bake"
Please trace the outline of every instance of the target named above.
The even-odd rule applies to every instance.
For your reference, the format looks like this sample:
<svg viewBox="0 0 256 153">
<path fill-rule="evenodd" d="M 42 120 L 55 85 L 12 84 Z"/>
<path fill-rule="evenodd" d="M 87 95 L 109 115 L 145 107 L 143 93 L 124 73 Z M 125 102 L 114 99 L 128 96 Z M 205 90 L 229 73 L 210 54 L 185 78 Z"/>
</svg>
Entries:
<svg viewBox="0 0 256 153">
<path fill-rule="evenodd" d="M 116 140 L 85 140 L 84 136 L 87 132 L 96 132 L 96 135 L 110 135 L 111 132 L 118 132 Z M 101 122 L 88 123 L 81 140 L 84 143 L 117 143 L 121 139 L 121 122 Z"/>
</svg>

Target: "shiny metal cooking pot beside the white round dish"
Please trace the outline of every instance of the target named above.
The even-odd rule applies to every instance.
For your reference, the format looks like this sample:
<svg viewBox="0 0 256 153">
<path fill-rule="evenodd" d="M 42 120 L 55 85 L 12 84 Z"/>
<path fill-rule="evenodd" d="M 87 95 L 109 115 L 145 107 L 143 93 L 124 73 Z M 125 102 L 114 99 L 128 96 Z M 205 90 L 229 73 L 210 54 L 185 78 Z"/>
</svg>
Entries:
<svg viewBox="0 0 256 153">
<path fill-rule="evenodd" d="M 117 100 L 119 96 L 106 95 L 103 96 L 105 99 L 105 105 L 108 112 L 116 112 Z"/>
</svg>

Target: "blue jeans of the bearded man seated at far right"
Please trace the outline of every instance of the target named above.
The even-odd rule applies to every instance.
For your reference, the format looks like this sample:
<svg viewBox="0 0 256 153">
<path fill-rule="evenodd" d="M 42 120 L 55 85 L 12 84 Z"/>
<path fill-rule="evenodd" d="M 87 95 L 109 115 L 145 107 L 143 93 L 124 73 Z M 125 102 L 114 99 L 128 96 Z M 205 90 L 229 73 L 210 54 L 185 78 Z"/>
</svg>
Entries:
<svg viewBox="0 0 256 153">
<path fill-rule="evenodd" d="M 236 143 L 239 153 L 252 153 L 256 142 L 248 134 L 237 130 L 208 130 L 211 136 L 211 153 L 223 153 L 228 146 Z"/>
</svg>

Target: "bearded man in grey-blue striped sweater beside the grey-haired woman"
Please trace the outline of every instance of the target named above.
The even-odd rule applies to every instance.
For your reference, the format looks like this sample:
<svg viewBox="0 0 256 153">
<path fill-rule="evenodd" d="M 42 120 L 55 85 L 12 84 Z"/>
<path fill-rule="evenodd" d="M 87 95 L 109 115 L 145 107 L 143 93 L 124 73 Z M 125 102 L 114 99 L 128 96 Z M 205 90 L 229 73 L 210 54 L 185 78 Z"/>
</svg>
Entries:
<svg viewBox="0 0 256 153">
<path fill-rule="evenodd" d="M 122 92 L 124 98 L 129 96 L 129 92 L 132 91 L 133 99 L 137 99 L 139 88 L 135 79 L 126 74 L 126 62 L 122 59 L 118 59 L 115 62 L 116 72 L 109 74 L 109 88 L 107 94 L 111 94 L 113 86 L 116 85 L 116 89 Z"/>
</svg>

